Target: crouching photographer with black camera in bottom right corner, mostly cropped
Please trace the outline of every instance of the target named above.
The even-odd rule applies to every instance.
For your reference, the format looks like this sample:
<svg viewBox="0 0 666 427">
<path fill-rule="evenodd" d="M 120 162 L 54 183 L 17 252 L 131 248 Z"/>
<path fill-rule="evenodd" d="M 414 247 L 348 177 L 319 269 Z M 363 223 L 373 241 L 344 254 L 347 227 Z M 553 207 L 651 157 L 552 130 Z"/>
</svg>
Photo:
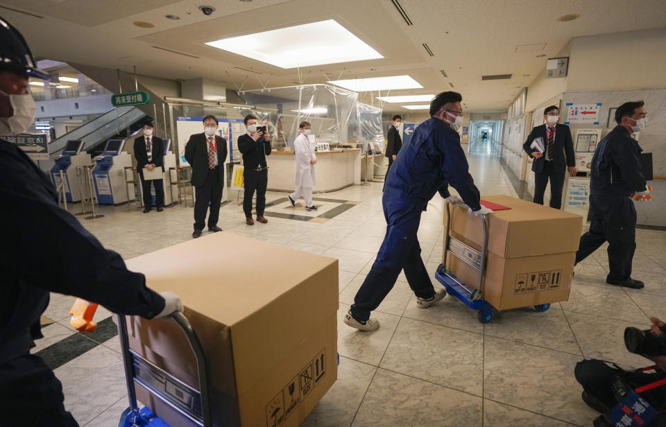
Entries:
<svg viewBox="0 0 666 427">
<path fill-rule="evenodd" d="M 647 331 L 636 328 L 624 330 L 624 345 L 634 354 L 640 354 L 654 362 L 654 369 L 637 369 L 625 371 L 617 365 L 608 365 L 603 360 L 583 360 L 576 365 L 576 380 L 583 386 L 583 401 L 590 408 L 604 416 L 595 420 L 595 426 L 615 426 L 610 416 L 617 404 L 626 397 L 629 390 L 638 389 L 640 398 L 647 401 L 657 412 L 660 412 L 651 423 L 643 426 L 666 426 L 666 387 L 664 385 L 649 386 L 666 378 L 666 324 L 656 317 L 651 317 L 652 326 Z M 651 371 L 651 372 L 647 372 Z M 642 391 L 639 387 L 646 386 L 649 390 Z M 641 406 L 638 406 L 639 408 Z M 618 406 L 631 410 L 627 406 Z M 616 411 L 617 412 L 617 411 Z M 629 417 L 631 419 L 631 417 Z M 609 422 L 610 421 L 610 422 Z M 633 426 L 634 424 L 621 424 Z"/>
</svg>

